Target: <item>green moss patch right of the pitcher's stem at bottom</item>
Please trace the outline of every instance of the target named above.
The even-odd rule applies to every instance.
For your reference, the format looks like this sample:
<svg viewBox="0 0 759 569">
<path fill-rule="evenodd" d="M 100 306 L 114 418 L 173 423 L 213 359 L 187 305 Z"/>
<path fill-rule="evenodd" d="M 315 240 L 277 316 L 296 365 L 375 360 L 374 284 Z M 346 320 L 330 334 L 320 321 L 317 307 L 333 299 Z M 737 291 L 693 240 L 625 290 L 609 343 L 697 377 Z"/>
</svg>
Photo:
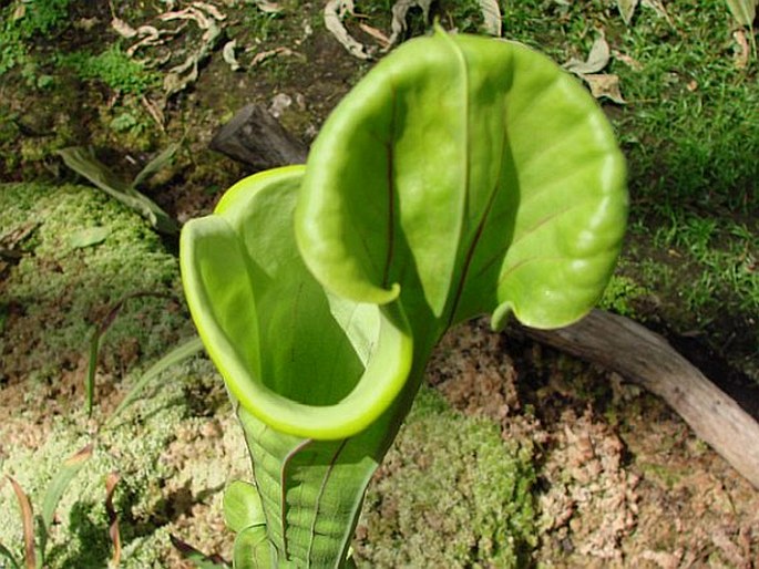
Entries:
<svg viewBox="0 0 759 569">
<path fill-rule="evenodd" d="M 422 390 L 367 495 L 359 567 L 524 567 L 536 546 L 532 455 Z"/>
</svg>

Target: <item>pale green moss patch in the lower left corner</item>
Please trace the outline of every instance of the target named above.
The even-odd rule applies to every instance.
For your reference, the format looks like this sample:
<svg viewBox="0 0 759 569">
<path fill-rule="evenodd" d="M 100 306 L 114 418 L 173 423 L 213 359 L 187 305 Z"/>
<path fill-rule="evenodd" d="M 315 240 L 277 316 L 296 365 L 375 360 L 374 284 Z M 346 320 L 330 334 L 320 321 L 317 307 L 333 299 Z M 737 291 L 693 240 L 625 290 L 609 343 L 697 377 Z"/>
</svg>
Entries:
<svg viewBox="0 0 759 569">
<path fill-rule="evenodd" d="M 196 359 L 167 371 L 160 389 L 130 407 L 112 428 L 101 428 L 90 436 L 86 417 L 76 412 L 58 416 L 37 448 L 4 447 L 8 456 L 0 463 L 0 469 L 21 484 L 39 514 L 47 486 L 61 462 L 85 444 L 95 443 L 92 458 L 73 479 L 57 510 L 59 523 L 52 529 L 45 567 L 107 566 L 112 546 L 105 513 L 105 477 L 111 472 L 121 476 L 114 507 L 120 517 L 122 569 L 167 567 L 166 559 L 173 555 L 170 534 L 176 532 L 176 520 L 196 504 L 209 501 L 220 516 L 220 492 L 226 477 L 235 469 L 243 472 L 247 463 L 243 453 L 219 451 L 229 444 L 242 445 L 239 437 L 224 444 L 213 437 L 180 441 L 182 433 L 198 431 L 198 418 L 191 415 L 192 392 L 204 382 L 217 384 L 222 391 L 213 365 Z M 4 441 L 12 438 L 12 428 L 0 425 Z M 170 457 L 172 449 L 180 452 L 173 446 L 180 444 L 181 452 L 192 456 L 191 466 Z M 211 446 L 216 452 L 208 451 Z M 203 456 L 196 456 L 196 452 Z M 188 478 L 192 487 L 182 509 L 177 506 L 181 492 L 176 488 L 182 488 L 183 480 Z M 0 487 L 0 542 L 13 551 L 20 551 L 22 545 L 20 519 L 13 493 L 6 484 Z M 204 528 L 197 532 L 207 534 Z"/>
</svg>

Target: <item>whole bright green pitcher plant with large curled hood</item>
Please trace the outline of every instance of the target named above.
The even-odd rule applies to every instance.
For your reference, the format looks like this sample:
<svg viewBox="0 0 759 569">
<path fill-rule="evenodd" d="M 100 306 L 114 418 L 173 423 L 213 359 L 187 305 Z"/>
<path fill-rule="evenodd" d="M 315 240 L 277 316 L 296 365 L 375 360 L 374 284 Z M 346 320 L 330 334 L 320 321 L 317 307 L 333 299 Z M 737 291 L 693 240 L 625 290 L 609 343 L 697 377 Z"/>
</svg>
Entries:
<svg viewBox="0 0 759 569">
<path fill-rule="evenodd" d="M 624 159 L 572 76 L 513 42 L 414 39 L 305 166 L 246 178 L 181 239 L 187 300 L 254 483 L 225 497 L 237 568 L 351 567 L 367 485 L 452 325 L 556 328 L 609 280 Z"/>
</svg>

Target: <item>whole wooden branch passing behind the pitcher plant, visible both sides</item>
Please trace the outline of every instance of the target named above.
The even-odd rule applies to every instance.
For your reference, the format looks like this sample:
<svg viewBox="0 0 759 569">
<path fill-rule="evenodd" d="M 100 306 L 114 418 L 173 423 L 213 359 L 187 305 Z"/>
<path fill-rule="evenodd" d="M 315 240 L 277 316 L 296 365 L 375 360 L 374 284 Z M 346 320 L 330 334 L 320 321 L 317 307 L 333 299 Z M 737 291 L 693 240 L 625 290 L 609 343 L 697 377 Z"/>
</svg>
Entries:
<svg viewBox="0 0 759 569">
<path fill-rule="evenodd" d="M 211 147 L 257 169 L 301 164 L 306 147 L 260 105 L 248 105 Z M 615 371 L 664 399 L 694 432 L 759 488 L 759 424 L 660 335 L 594 310 L 561 330 L 521 328 L 530 338 Z"/>
</svg>

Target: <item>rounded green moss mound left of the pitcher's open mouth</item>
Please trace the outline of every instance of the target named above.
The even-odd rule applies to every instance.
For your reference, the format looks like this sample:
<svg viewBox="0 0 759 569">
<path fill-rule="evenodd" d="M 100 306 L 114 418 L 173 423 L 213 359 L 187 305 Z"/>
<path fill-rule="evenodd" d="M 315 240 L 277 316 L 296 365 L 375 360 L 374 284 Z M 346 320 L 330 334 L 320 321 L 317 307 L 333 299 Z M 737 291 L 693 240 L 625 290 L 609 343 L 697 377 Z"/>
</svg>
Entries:
<svg viewBox="0 0 759 569">
<path fill-rule="evenodd" d="M 103 341 L 105 369 L 123 371 L 189 333 L 175 257 L 136 214 L 100 190 L 0 185 L 0 227 L 6 246 L 22 254 L 1 284 L 14 314 L 0 339 L 4 375 L 45 379 L 79 365 L 94 324 L 130 294 L 161 297 L 125 302 Z M 82 246 L 93 229 L 104 238 Z"/>
</svg>

